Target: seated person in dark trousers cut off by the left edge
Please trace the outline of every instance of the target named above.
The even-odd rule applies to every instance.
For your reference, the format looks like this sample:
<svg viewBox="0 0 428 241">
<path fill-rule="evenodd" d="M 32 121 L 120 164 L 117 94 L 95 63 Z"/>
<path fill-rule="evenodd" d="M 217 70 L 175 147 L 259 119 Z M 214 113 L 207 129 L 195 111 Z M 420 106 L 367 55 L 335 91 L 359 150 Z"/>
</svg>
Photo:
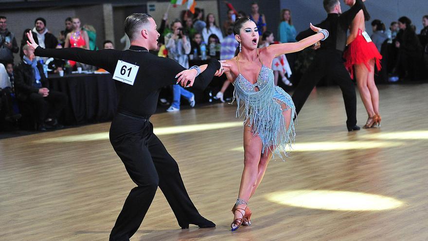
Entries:
<svg viewBox="0 0 428 241">
<path fill-rule="evenodd" d="M 12 65 L 12 64 L 10 64 Z M 12 106 L 12 84 L 10 82 L 9 75 L 4 68 L 4 65 L 0 63 L 0 112 L 5 113 L 6 121 L 16 121 L 21 118 L 21 114 L 15 114 Z"/>
</svg>

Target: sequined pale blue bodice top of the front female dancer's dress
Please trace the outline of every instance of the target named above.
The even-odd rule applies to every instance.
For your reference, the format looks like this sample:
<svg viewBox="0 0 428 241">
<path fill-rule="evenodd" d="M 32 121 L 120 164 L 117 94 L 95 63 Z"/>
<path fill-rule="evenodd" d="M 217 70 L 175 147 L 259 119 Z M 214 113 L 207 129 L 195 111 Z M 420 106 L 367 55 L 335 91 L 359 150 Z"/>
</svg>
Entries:
<svg viewBox="0 0 428 241">
<path fill-rule="evenodd" d="M 262 90 L 267 84 L 274 85 L 274 76 L 273 70 L 267 68 L 265 65 L 262 65 L 260 73 L 257 77 L 257 82 L 251 84 L 244 75 L 241 73 L 238 74 L 235 80 L 235 84 L 238 84 L 246 93 L 257 92 L 255 87 L 258 87 L 259 90 Z"/>
</svg>

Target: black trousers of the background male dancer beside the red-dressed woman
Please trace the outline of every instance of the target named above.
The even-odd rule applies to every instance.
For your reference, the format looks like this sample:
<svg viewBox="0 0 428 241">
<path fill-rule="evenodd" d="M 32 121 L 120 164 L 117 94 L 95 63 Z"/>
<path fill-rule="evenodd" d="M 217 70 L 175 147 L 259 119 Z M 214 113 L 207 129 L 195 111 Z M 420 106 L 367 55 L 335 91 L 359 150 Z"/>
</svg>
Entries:
<svg viewBox="0 0 428 241">
<path fill-rule="evenodd" d="M 342 52 L 337 50 L 319 50 L 314 61 L 303 74 L 299 85 L 293 93 L 292 99 L 299 114 L 304 102 L 309 97 L 314 87 L 323 77 L 331 78 L 339 85 L 342 91 L 346 110 L 346 126 L 352 128 L 357 125 L 357 96 L 355 84 L 352 82 L 348 71 L 345 69 Z"/>
</svg>

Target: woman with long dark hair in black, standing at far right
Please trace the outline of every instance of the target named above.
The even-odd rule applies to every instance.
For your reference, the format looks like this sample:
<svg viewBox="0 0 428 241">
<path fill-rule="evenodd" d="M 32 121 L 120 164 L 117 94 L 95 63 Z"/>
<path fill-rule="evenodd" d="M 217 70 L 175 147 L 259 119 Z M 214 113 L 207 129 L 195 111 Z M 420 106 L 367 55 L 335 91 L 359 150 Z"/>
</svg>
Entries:
<svg viewBox="0 0 428 241">
<path fill-rule="evenodd" d="M 395 38 L 398 48 L 397 71 L 400 79 L 415 80 L 419 77 L 419 64 L 422 60 L 422 45 L 416 36 L 414 27 L 408 17 L 398 19 L 400 31 Z"/>
</svg>

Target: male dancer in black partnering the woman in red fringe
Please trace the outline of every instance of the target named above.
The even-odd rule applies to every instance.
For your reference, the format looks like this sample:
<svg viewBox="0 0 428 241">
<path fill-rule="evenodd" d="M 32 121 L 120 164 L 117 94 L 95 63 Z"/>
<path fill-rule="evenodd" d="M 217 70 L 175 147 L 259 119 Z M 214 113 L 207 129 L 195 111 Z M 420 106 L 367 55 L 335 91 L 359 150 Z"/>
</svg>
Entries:
<svg viewBox="0 0 428 241">
<path fill-rule="evenodd" d="M 345 0 L 348 1 L 348 0 Z M 352 20 L 362 9 L 362 0 L 356 0 L 354 6 L 342 13 L 339 0 L 324 0 L 324 9 L 327 19 L 315 26 L 328 30 L 330 36 L 321 44 L 316 56 L 306 73 L 303 74 L 299 85 L 293 93 L 292 99 L 299 114 L 307 97 L 324 76 L 331 77 L 340 87 L 345 102 L 346 126 L 348 131 L 359 130 L 357 126 L 357 97 L 355 86 L 349 73 L 343 65 L 343 51 L 346 46 L 346 33 Z M 314 34 L 311 29 L 305 30 L 296 39 L 299 41 Z"/>
</svg>

